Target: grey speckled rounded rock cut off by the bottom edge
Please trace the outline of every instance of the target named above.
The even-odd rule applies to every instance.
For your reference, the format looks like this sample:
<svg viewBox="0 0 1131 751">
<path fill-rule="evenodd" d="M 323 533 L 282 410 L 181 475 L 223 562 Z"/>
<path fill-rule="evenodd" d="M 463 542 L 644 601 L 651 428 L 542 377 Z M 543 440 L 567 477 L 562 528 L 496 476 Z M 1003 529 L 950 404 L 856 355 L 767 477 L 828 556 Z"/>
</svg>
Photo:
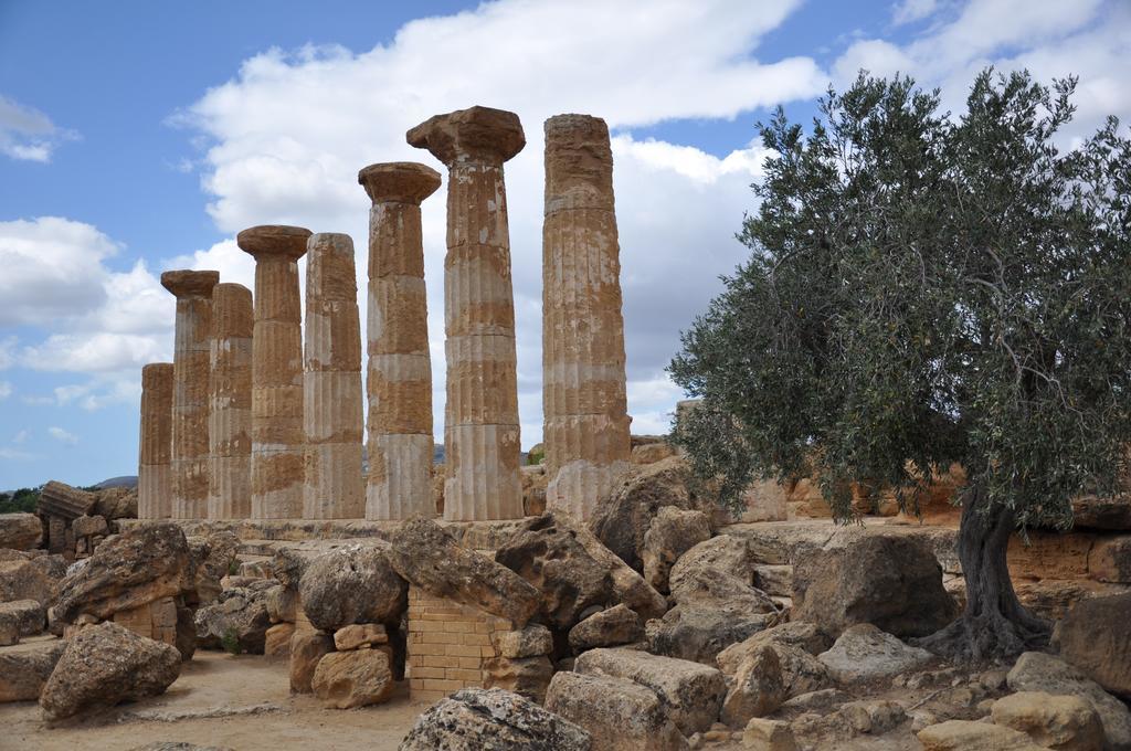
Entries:
<svg viewBox="0 0 1131 751">
<path fill-rule="evenodd" d="M 432 705 L 399 751 L 597 751 L 589 734 L 517 693 L 464 689 Z"/>
</svg>

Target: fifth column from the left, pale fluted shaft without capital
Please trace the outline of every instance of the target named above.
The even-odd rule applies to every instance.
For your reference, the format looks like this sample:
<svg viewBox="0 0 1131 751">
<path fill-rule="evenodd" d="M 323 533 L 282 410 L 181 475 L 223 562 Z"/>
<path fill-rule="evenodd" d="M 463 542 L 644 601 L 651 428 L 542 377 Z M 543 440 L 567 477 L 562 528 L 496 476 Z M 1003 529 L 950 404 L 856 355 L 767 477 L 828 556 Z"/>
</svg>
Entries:
<svg viewBox="0 0 1131 751">
<path fill-rule="evenodd" d="M 307 242 L 303 432 L 304 519 L 360 519 L 365 513 L 361 443 L 361 319 L 349 235 L 323 232 Z"/>
</svg>

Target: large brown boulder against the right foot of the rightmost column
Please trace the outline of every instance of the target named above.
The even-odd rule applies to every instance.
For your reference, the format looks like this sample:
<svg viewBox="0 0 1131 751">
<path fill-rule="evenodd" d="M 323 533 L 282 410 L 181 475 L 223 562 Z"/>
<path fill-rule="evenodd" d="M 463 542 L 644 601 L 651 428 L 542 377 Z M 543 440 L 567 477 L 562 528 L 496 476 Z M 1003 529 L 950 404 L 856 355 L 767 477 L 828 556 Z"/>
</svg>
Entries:
<svg viewBox="0 0 1131 751">
<path fill-rule="evenodd" d="M 659 509 L 665 506 L 696 508 L 687 481 L 688 465 L 681 457 L 644 465 L 598 501 L 589 528 L 605 547 L 642 571 L 644 537 Z"/>
</svg>

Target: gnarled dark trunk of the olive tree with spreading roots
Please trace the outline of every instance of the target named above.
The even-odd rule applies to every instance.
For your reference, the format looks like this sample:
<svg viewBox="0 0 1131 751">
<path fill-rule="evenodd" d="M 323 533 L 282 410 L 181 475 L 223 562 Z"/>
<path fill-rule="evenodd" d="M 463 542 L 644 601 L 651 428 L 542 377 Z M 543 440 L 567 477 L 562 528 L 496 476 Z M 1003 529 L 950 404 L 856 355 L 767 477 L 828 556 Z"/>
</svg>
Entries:
<svg viewBox="0 0 1131 751">
<path fill-rule="evenodd" d="M 961 662 L 985 662 L 1048 644 L 1051 624 L 1021 605 L 1009 578 L 1005 553 L 1015 523 L 1012 510 L 987 509 L 982 490 L 969 490 L 958 528 L 966 611 L 947 628 L 921 639 L 921 647 Z"/>
</svg>

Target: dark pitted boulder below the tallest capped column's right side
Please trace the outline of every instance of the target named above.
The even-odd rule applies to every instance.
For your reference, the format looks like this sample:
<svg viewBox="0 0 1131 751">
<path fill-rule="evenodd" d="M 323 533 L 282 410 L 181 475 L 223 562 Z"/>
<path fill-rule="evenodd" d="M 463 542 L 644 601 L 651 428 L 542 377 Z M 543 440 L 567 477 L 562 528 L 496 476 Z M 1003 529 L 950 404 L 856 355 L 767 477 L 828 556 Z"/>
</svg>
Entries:
<svg viewBox="0 0 1131 751">
<path fill-rule="evenodd" d="M 495 551 L 495 562 L 529 581 L 542 593 L 546 621 L 570 629 L 582 613 L 613 601 L 612 576 L 578 542 L 566 521 L 544 513 L 523 527 Z"/>
</svg>

